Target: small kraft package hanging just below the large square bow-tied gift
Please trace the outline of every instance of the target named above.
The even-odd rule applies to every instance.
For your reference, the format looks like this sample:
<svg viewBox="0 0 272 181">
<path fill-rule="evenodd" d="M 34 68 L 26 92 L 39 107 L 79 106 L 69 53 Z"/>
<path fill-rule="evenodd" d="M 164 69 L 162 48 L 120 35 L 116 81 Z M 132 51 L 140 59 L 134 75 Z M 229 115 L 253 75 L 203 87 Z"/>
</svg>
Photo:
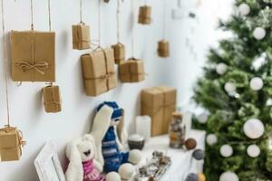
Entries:
<svg viewBox="0 0 272 181">
<path fill-rule="evenodd" d="M 47 86 L 43 89 L 44 110 L 46 112 L 62 111 L 62 99 L 59 86 Z"/>
</svg>

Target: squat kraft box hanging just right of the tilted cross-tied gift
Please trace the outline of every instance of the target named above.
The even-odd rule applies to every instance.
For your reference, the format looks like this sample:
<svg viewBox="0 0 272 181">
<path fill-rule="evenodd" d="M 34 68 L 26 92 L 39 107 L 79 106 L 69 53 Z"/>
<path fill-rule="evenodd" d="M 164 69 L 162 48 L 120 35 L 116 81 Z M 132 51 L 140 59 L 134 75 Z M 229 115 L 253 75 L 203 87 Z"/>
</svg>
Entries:
<svg viewBox="0 0 272 181">
<path fill-rule="evenodd" d="M 144 81 L 144 63 L 141 60 L 129 59 L 119 65 L 119 79 L 121 82 Z"/>
</svg>

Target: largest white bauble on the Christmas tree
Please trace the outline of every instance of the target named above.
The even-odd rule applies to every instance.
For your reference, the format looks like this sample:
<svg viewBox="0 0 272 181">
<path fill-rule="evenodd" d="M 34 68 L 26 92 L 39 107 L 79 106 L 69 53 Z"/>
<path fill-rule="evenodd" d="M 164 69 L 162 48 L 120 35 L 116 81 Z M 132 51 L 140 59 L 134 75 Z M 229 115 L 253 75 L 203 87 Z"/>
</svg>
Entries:
<svg viewBox="0 0 272 181">
<path fill-rule="evenodd" d="M 245 135 L 252 139 L 260 138 L 265 132 L 265 126 L 259 119 L 248 119 L 243 129 Z"/>
</svg>

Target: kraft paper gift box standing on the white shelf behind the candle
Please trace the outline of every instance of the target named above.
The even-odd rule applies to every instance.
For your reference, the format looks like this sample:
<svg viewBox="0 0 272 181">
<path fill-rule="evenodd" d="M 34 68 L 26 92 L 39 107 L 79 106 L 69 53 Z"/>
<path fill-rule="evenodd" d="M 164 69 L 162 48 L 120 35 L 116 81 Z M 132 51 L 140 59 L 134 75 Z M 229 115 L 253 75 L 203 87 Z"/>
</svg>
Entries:
<svg viewBox="0 0 272 181">
<path fill-rule="evenodd" d="M 177 90 L 159 86 L 141 91 L 141 115 L 151 117 L 151 135 L 167 134 L 176 110 Z"/>
</svg>

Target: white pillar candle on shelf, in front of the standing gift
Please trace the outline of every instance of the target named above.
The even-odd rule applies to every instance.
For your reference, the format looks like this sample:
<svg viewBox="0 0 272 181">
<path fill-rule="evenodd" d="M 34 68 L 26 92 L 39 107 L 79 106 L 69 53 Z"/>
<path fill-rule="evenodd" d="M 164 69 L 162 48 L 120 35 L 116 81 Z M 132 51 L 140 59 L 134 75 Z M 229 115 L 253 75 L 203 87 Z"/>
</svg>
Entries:
<svg viewBox="0 0 272 181">
<path fill-rule="evenodd" d="M 148 141 L 151 138 L 151 117 L 136 117 L 136 134 L 141 135 Z"/>
</svg>

